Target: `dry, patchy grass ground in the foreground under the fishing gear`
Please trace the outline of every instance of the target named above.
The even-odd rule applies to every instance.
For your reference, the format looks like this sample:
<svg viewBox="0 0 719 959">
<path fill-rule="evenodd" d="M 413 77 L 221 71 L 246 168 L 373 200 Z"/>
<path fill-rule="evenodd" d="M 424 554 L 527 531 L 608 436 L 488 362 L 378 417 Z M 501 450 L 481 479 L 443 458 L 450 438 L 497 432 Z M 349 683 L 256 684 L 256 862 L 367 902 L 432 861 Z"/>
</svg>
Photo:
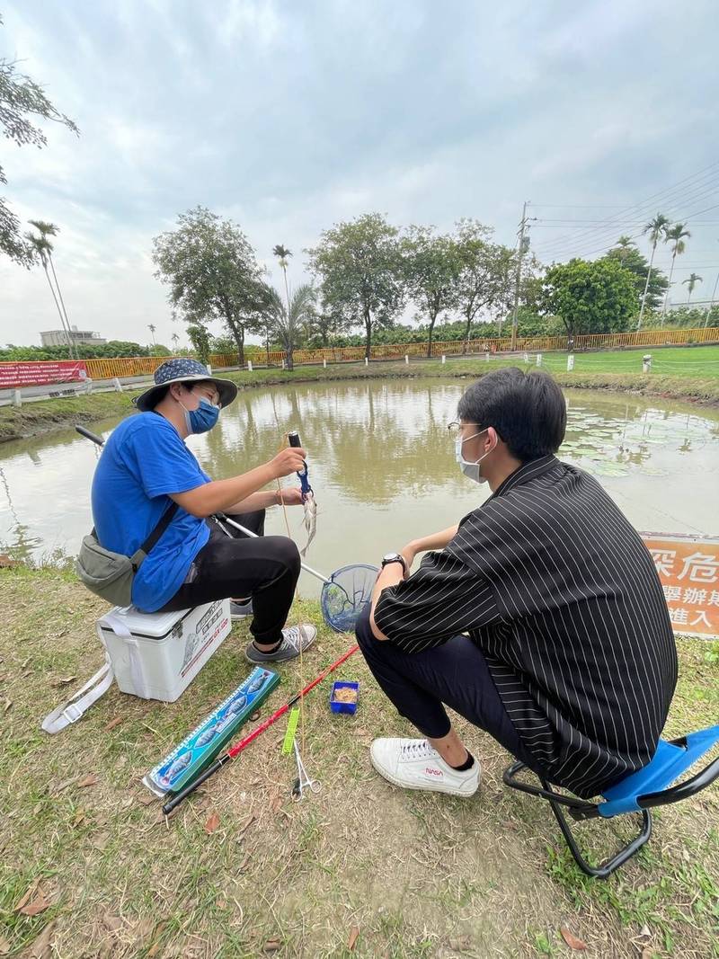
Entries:
<svg viewBox="0 0 719 959">
<path fill-rule="evenodd" d="M 548 809 L 502 786 L 509 757 L 475 729 L 482 784 L 470 801 L 375 776 L 371 738 L 408 729 L 358 654 L 337 676 L 362 684 L 355 717 L 329 712 L 327 687 L 306 702 L 304 759 L 321 793 L 290 802 L 278 723 L 165 822 L 140 779 L 247 674 L 246 626 L 178 702 L 113 687 L 48 737 L 41 716 L 102 662 L 94 622 L 106 607 L 53 571 L 0 571 L 0 598 L 0 954 L 35 944 L 66 957 L 561 956 L 565 928 L 588 957 L 719 955 L 716 788 L 661 811 L 649 846 L 592 882 Z M 318 621 L 312 603 L 300 613 Z M 305 682 L 349 643 L 321 629 Z M 680 641 L 668 733 L 716 721 L 716 652 Z M 262 718 L 301 683 L 297 664 L 280 671 Z M 596 826 L 580 827 L 595 851 Z"/>
</svg>

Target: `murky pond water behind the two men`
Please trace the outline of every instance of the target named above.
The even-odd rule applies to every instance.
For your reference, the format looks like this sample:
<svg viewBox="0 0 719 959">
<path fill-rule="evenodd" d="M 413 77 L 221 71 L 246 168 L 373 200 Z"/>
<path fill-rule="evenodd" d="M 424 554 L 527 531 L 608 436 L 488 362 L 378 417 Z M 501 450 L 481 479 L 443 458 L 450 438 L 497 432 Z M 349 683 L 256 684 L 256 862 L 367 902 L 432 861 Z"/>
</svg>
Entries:
<svg viewBox="0 0 719 959">
<path fill-rule="evenodd" d="M 273 456 L 299 430 L 318 504 L 307 561 L 330 573 L 378 564 L 415 536 L 450 526 L 489 490 L 465 479 L 447 423 L 462 380 L 308 384 L 241 392 L 220 425 L 188 443 L 213 477 Z M 719 413 L 620 393 L 567 391 L 559 456 L 597 477 L 640 530 L 719 534 Z M 107 435 L 116 421 L 94 429 Z M 0 551 L 35 562 L 72 555 L 92 525 L 96 448 L 72 430 L 0 445 Z M 286 480 L 288 482 L 289 480 Z M 288 510 L 304 546 L 301 509 Z M 267 532 L 284 533 L 280 509 Z M 309 576 L 304 595 L 314 595 Z"/>
</svg>

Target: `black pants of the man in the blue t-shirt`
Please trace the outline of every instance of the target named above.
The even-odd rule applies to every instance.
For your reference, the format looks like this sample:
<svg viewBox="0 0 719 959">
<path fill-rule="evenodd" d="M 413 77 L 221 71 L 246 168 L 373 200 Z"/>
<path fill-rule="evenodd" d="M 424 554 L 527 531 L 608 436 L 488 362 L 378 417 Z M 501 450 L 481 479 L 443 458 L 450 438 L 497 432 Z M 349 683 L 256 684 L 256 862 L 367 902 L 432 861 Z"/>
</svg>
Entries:
<svg viewBox="0 0 719 959">
<path fill-rule="evenodd" d="M 208 520 L 210 539 L 197 553 L 185 582 L 160 612 L 189 609 L 228 596 L 252 596 L 250 632 L 258 643 L 277 643 L 299 578 L 299 551 L 287 536 L 263 535 L 264 509 L 232 519 L 260 538 L 223 524 L 228 536 L 214 520 Z"/>
</svg>

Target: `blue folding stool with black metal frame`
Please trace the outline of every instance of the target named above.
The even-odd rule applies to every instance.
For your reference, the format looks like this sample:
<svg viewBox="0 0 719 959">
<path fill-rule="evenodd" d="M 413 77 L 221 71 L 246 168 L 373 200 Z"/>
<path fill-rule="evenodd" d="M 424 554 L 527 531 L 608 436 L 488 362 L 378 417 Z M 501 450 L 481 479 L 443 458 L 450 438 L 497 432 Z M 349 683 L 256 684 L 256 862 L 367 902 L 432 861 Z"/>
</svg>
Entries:
<svg viewBox="0 0 719 959">
<path fill-rule="evenodd" d="M 672 785 L 677 783 L 689 767 L 700 760 L 717 742 L 719 742 L 719 726 L 709 726 L 708 729 L 690 733 L 688 736 L 672 739 L 669 742 L 660 739 L 657 752 L 651 762 L 602 793 L 601 803 L 587 803 L 557 792 L 541 776 L 539 780 L 542 788 L 523 783 L 517 778 L 526 768 L 523 762 L 513 763 L 504 771 L 503 779 L 506 785 L 514 789 L 521 789 L 522 792 L 547 800 L 579 868 L 588 876 L 606 879 L 633 856 L 651 836 L 650 809 L 652 807 L 679 803 L 683 799 L 688 799 L 689 796 L 695 796 L 702 789 L 706 789 L 707 785 L 719 779 L 719 757 L 717 757 L 690 779 Z M 640 812 L 641 830 L 630 843 L 601 866 L 591 866 L 579 851 L 562 807 L 567 807 L 572 819 L 578 821 L 597 817 L 611 819 L 626 812 Z"/>
</svg>

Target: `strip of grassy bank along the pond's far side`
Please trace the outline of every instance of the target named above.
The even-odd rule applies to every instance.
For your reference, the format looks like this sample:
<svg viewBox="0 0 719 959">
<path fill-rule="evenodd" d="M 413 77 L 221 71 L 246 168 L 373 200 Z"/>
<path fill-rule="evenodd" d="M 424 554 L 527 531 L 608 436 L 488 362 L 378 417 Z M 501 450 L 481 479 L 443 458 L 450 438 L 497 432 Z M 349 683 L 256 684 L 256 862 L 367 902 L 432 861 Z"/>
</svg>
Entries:
<svg viewBox="0 0 719 959">
<path fill-rule="evenodd" d="M 567 356 L 547 353 L 543 368 L 556 375 L 562 386 L 588 389 L 632 390 L 652 396 L 669 397 L 693 403 L 719 406 L 719 346 L 666 348 L 655 350 L 650 374 L 641 373 L 643 350 L 612 353 L 577 354 L 574 371 L 567 372 Z M 467 359 L 404 361 L 322 366 L 300 366 L 292 372 L 281 369 L 257 369 L 221 374 L 244 389 L 287 383 L 333 382 L 406 377 L 475 377 L 499 366 L 525 364 L 517 359 L 483 357 Z M 525 368 L 529 368 L 526 366 Z M 23 407 L 0 407 L 0 442 L 20 439 L 35 433 L 66 428 L 74 423 L 90 424 L 131 409 L 131 399 L 140 390 L 127 393 L 95 393 L 28 403 Z"/>
</svg>

